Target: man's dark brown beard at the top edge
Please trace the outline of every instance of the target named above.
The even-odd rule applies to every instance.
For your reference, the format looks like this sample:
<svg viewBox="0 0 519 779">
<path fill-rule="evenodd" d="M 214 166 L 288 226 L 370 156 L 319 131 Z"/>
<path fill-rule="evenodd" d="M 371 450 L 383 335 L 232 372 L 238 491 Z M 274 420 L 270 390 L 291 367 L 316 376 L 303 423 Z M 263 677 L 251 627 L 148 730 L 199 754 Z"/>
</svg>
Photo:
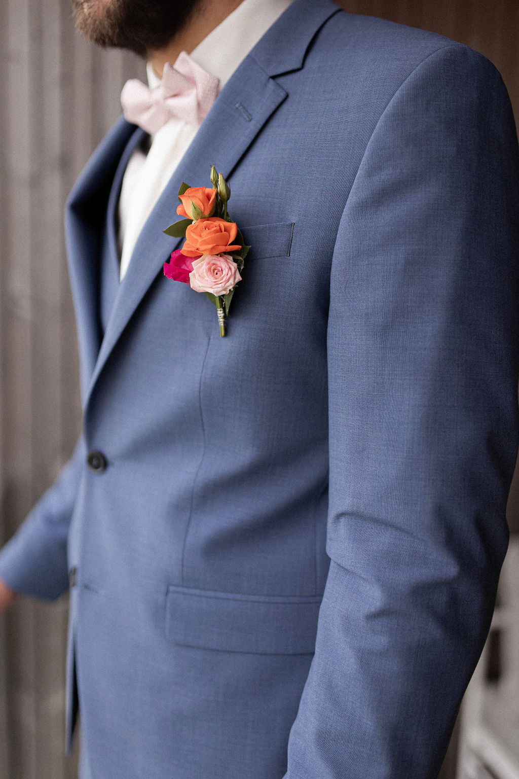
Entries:
<svg viewBox="0 0 519 779">
<path fill-rule="evenodd" d="M 164 48 L 204 0 L 72 0 L 75 28 L 98 46 L 141 57 Z"/>
</svg>

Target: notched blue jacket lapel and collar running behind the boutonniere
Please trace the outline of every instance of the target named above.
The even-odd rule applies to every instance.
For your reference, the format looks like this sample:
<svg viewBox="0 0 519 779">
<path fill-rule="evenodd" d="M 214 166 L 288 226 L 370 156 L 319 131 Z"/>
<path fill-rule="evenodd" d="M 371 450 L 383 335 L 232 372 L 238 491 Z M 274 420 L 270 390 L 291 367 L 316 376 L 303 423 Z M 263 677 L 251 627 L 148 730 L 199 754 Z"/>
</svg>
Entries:
<svg viewBox="0 0 519 779">
<path fill-rule="evenodd" d="M 286 90 L 271 76 L 300 69 L 318 27 L 339 11 L 330 0 L 295 0 L 226 83 L 139 235 L 107 324 L 86 402 L 135 309 L 162 271 L 163 263 L 181 243 L 163 234 L 164 228 L 178 218 L 177 192 L 181 183 L 204 186 L 213 163 L 229 177 L 265 122 L 287 97 Z M 291 42 L 289 47 L 286 41 Z"/>
</svg>

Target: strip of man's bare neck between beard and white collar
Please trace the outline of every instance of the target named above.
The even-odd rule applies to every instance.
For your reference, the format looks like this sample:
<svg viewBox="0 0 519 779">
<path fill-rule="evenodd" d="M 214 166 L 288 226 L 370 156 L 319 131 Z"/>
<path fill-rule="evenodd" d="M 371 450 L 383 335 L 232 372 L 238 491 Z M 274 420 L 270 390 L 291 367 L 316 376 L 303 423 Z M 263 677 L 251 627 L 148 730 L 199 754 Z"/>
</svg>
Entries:
<svg viewBox="0 0 519 779">
<path fill-rule="evenodd" d="M 158 51 L 148 51 L 147 59 L 156 76 L 162 78 L 164 65 L 173 64 L 181 51 L 188 54 L 202 43 L 212 30 L 226 19 L 241 0 L 205 0 L 190 19 L 188 25 Z"/>
</svg>

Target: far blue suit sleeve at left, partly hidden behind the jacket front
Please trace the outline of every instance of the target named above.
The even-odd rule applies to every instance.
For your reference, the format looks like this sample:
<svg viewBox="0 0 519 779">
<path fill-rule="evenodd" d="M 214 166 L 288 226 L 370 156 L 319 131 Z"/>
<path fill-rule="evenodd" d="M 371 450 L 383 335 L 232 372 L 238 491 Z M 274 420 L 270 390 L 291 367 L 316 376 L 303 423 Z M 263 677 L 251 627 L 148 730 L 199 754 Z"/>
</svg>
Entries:
<svg viewBox="0 0 519 779">
<path fill-rule="evenodd" d="M 58 480 L 0 551 L 0 578 L 16 592 L 54 600 L 68 590 L 68 527 L 85 460 L 81 438 Z"/>
</svg>

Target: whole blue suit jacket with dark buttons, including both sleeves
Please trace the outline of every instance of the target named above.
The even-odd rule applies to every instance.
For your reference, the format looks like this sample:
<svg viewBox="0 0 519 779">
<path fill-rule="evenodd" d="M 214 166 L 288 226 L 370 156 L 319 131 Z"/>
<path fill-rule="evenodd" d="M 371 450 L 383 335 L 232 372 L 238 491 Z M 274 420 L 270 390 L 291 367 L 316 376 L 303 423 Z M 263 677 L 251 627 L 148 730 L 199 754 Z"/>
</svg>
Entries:
<svg viewBox="0 0 519 779">
<path fill-rule="evenodd" d="M 517 452 L 500 76 L 295 0 L 216 100 L 102 333 L 103 225 L 136 132 L 115 125 L 68 202 L 84 432 L 0 576 L 52 598 L 77 569 L 94 779 L 432 779 L 489 627 Z M 179 185 L 212 163 L 252 245 L 225 338 L 162 272 Z"/>
</svg>

